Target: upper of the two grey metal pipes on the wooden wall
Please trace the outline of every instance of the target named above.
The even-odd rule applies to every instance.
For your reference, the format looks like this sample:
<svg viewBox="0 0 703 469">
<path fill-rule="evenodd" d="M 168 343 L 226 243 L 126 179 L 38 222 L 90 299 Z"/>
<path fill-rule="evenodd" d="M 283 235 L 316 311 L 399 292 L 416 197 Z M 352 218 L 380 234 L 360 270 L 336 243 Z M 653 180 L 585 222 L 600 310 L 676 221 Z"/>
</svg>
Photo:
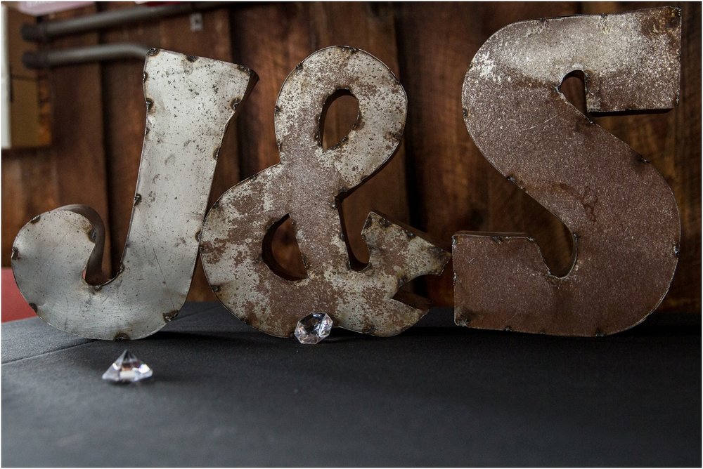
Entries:
<svg viewBox="0 0 703 469">
<path fill-rule="evenodd" d="M 188 2 L 164 6 L 138 6 L 124 10 L 103 11 L 94 15 L 70 18 L 69 20 L 39 22 L 22 25 L 22 38 L 25 41 L 49 41 L 53 37 L 79 34 L 107 27 L 124 25 L 130 22 L 157 20 L 167 16 L 194 13 L 212 8 L 221 8 L 228 2 L 205 1 Z"/>
</svg>

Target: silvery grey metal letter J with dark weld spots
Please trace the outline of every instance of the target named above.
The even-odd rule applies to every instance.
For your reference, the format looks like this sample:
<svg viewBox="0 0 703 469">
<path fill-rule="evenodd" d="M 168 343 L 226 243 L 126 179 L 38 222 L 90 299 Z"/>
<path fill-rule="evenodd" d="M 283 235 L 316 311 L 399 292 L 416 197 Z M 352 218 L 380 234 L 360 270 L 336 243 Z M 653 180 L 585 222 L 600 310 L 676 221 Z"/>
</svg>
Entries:
<svg viewBox="0 0 703 469">
<path fill-rule="evenodd" d="M 87 206 L 42 213 L 13 244 L 15 279 L 37 315 L 86 338 L 141 338 L 178 313 L 224 131 L 256 82 L 246 67 L 157 49 L 143 78 L 146 132 L 120 272 L 105 282 L 103 223 Z"/>
</svg>

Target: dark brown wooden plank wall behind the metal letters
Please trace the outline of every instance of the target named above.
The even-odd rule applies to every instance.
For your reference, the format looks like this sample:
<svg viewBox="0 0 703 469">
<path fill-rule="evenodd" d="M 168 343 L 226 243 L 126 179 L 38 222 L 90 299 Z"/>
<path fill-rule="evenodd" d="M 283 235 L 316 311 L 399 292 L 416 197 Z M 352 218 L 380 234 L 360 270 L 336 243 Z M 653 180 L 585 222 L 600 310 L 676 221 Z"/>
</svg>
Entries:
<svg viewBox="0 0 703 469">
<path fill-rule="evenodd" d="M 363 48 L 396 73 L 409 108 L 396 157 L 342 204 L 356 257 L 368 259 L 359 235 L 366 214 L 375 209 L 445 243 L 459 230 L 529 232 L 548 265 L 563 271 L 571 249 L 568 232 L 478 152 L 461 114 L 463 77 L 483 42 L 511 22 L 657 5 L 671 4 L 233 4 L 204 13 L 200 32 L 192 32 L 184 16 L 61 39 L 51 47 L 134 41 L 255 70 L 260 80 L 238 121 L 228 128 L 211 203 L 238 181 L 278 162 L 273 106 L 288 72 L 325 46 Z M 97 4 L 56 18 L 133 6 Z M 681 8 L 680 105 L 665 114 L 600 117 L 597 122 L 650 159 L 669 181 L 683 234 L 676 277 L 659 310 L 700 313 L 701 5 L 685 3 Z M 119 265 L 145 121 L 142 67 L 138 60 L 122 60 L 51 71 L 53 145 L 2 154 L 2 265 L 9 265 L 12 240 L 27 220 L 72 203 L 89 204 L 101 213 L 110 231 L 105 267 Z M 569 79 L 565 88 L 578 105 L 582 84 Z M 335 102 L 325 119 L 328 142 L 344 136 L 354 120 L 354 100 L 345 99 Z M 292 269 L 302 269 L 286 225 L 277 234 L 276 255 Z M 441 277 L 414 286 L 436 304 L 451 305 L 451 265 Z M 199 263 L 188 298 L 214 300 Z"/>
</svg>

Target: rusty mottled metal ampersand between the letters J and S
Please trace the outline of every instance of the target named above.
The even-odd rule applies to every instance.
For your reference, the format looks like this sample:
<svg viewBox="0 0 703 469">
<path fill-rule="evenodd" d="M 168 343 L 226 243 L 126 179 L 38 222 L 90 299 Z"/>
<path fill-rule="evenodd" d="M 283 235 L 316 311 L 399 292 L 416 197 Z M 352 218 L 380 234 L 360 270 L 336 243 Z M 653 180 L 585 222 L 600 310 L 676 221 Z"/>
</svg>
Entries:
<svg viewBox="0 0 703 469">
<path fill-rule="evenodd" d="M 359 117 L 339 145 L 323 150 L 321 114 L 338 90 L 359 100 Z M 396 77 L 358 49 L 325 48 L 290 73 L 274 112 L 280 164 L 228 190 L 203 225 L 202 265 L 234 315 L 284 337 L 315 311 L 327 312 L 335 326 L 376 336 L 392 336 L 425 315 L 418 298 L 404 298 L 417 308 L 392 298 L 411 279 L 439 274 L 449 253 L 370 213 L 362 234 L 370 261 L 356 271 L 340 223 L 340 198 L 392 156 L 406 109 Z M 291 279 L 266 245 L 267 232 L 285 216 L 307 268 L 304 279 Z"/>
</svg>

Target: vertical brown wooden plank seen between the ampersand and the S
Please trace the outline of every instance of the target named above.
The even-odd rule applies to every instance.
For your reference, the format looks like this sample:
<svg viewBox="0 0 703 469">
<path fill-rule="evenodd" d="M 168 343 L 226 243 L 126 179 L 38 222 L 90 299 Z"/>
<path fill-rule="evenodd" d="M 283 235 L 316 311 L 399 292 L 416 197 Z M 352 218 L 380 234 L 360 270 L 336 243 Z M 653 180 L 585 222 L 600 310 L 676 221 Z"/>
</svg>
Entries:
<svg viewBox="0 0 703 469">
<path fill-rule="evenodd" d="M 486 223 L 489 164 L 473 145 L 463 123 L 461 84 L 482 44 L 467 25 L 473 4 L 403 4 L 398 11 L 401 82 L 408 93 L 405 144 L 411 225 L 438 239 L 454 232 L 482 230 Z M 427 279 L 428 296 L 451 304 L 453 265 Z"/>
</svg>

